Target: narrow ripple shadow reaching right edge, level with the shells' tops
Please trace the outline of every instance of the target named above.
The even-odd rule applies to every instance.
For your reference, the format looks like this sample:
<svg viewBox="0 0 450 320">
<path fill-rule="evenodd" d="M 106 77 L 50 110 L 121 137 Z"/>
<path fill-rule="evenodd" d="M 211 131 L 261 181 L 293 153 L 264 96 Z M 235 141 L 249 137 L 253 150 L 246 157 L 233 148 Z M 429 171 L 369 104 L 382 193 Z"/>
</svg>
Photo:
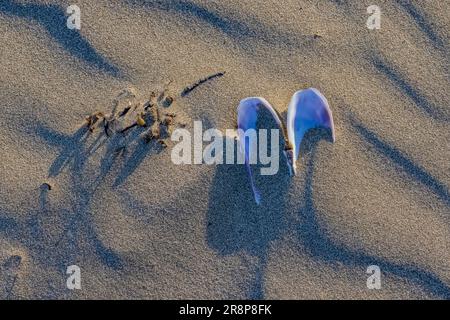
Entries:
<svg viewBox="0 0 450 320">
<path fill-rule="evenodd" d="M 374 57 L 372 60 L 374 67 L 383 73 L 389 81 L 399 88 L 406 96 L 408 96 L 416 106 L 426 112 L 430 117 L 438 121 L 450 121 L 450 117 L 443 108 L 433 105 L 428 99 L 416 90 L 395 68 L 389 65 L 380 57 Z"/>
</svg>

